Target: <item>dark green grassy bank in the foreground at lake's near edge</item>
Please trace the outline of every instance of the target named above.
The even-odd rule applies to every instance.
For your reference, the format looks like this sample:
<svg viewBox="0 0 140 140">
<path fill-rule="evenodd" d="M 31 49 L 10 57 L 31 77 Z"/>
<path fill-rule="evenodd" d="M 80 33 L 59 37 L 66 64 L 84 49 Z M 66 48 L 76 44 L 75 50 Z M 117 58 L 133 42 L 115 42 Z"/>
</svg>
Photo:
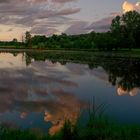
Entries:
<svg viewBox="0 0 140 140">
<path fill-rule="evenodd" d="M 91 113 L 85 125 L 65 121 L 55 135 L 0 126 L 0 140 L 140 140 L 140 125 L 119 124 Z"/>
</svg>

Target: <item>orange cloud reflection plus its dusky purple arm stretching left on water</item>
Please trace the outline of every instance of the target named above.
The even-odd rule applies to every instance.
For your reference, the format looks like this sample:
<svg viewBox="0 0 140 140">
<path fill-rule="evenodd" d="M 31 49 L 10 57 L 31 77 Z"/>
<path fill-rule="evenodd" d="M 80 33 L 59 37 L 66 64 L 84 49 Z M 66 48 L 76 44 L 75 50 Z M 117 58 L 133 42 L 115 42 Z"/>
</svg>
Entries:
<svg viewBox="0 0 140 140">
<path fill-rule="evenodd" d="M 44 120 L 51 122 L 50 134 L 58 132 L 65 120 L 74 123 L 80 113 L 80 108 L 85 107 L 85 103 L 76 99 L 72 93 L 65 92 L 62 89 L 50 91 L 53 96 L 44 101 L 19 101 L 18 111 L 22 112 L 20 117 L 25 118 L 30 112 L 45 112 Z"/>
</svg>

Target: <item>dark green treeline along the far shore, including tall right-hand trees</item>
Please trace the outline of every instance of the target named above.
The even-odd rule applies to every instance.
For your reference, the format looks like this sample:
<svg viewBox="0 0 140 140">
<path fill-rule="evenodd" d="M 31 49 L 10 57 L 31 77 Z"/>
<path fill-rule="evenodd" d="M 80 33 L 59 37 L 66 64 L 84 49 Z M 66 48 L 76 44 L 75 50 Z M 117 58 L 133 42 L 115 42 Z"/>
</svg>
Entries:
<svg viewBox="0 0 140 140">
<path fill-rule="evenodd" d="M 116 16 L 112 20 L 110 31 L 96 33 L 94 31 L 80 35 L 44 35 L 32 36 L 30 32 L 25 33 L 24 42 L 16 39 L 10 42 L 0 42 L 0 46 L 16 46 L 16 48 L 33 49 L 99 49 L 118 50 L 121 48 L 140 47 L 140 14 L 130 11 L 122 16 Z"/>
</svg>

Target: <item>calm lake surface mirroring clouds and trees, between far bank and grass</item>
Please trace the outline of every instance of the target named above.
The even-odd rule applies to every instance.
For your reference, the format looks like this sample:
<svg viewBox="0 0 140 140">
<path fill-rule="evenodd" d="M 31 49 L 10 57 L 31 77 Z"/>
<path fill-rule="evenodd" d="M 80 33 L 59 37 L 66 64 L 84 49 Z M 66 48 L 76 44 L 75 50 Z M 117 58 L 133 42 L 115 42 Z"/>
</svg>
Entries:
<svg viewBox="0 0 140 140">
<path fill-rule="evenodd" d="M 140 58 L 111 53 L 1 52 L 0 123 L 57 131 L 94 98 L 140 124 Z"/>
</svg>

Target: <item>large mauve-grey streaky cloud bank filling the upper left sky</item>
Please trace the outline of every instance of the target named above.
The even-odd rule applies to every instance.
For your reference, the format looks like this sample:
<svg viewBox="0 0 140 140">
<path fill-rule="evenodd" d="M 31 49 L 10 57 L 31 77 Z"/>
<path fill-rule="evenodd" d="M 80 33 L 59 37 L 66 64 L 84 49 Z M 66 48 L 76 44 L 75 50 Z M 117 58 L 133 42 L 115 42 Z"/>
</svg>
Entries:
<svg viewBox="0 0 140 140">
<path fill-rule="evenodd" d="M 0 0 L 0 24 L 9 26 L 20 26 L 31 29 L 38 34 L 52 35 L 58 33 L 60 26 L 69 24 L 68 15 L 80 12 L 75 7 L 77 0 Z M 70 3 L 68 5 L 67 3 Z M 74 6 L 73 6 L 74 4 Z M 50 19 L 56 21 L 55 26 L 49 24 Z M 60 21 L 62 21 L 60 25 Z M 59 24 L 57 24 L 57 22 Z M 46 24 L 47 27 L 44 25 Z M 41 27 L 42 26 L 42 27 Z M 45 27 L 45 28 L 44 28 Z M 37 29 L 35 29 L 37 28 Z M 44 30 L 43 30 L 44 28 Z"/>
</svg>

